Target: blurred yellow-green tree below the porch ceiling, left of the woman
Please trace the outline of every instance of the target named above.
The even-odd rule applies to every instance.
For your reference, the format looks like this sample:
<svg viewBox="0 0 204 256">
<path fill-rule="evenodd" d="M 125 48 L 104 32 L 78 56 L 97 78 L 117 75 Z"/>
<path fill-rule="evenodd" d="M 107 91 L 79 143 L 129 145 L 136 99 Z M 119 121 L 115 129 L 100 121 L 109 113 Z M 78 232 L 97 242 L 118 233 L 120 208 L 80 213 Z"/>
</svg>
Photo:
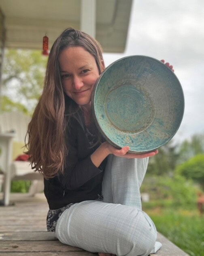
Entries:
<svg viewBox="0 0 204 256">
<path fill-rule="evenodd" d="M 43 89 L 47 57 L 39 50 L 6 49 L 2 87 L 2 109 L 32 113 Z M 25 107 L 23 110 L 23 106 Z"/>
</svg>

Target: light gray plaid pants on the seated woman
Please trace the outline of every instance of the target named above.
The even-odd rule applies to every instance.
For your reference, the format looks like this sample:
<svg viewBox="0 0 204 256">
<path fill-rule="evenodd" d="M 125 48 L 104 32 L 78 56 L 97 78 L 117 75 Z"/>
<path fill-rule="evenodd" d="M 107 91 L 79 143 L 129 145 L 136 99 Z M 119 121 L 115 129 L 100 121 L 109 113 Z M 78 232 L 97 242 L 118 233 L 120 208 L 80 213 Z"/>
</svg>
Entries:
<svg viewBox="0 0 204 256">
<path fill-rule="evenodd" d="M 154 223 L 142 212 L 140 185 L 148 158 L 108 156 L 102 193 L 104 202 L 73 204 L 57 221 L 55 236 L 89 252 L 148 255 L 157 237 Z"/>
</svg>

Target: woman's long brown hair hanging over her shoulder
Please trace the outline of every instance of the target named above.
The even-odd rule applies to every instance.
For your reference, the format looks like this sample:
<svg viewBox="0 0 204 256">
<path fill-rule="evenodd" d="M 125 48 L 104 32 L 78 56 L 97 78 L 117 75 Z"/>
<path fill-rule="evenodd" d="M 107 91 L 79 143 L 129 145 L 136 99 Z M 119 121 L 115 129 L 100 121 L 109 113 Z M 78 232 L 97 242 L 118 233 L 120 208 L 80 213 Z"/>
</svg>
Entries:
<svg viewBox="0 0 204 256">
<path fill-rule="evenodd" d="M 94 56 L 99 74 L 102 73 L 102 48 L 91 36 L 82 31 L 68 28 L 55 40 L 49 53 L 43 93 L 34 110 L 26 137 L 26 148 L 32 168 L 45 178 L 63 173 L 64 156 L 68 149 L 65 145 L 66 113 L 72 115 L 79 106 L 64 94 L 58 57 L 69 46 L 82 46 Z M 66 100 L 65 100 L 66 97 Z M 65 124 L 66 123 L 66 124 Z"/>
</svg>

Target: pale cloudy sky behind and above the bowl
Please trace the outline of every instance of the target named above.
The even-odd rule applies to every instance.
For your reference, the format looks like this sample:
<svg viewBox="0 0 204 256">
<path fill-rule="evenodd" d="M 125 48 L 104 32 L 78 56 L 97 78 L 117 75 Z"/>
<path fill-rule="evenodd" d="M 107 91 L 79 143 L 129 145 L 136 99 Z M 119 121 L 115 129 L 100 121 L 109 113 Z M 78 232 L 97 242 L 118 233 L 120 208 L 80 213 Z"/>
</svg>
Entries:
<svg viewBox="0 0 204 256">
<path fill-rule="evenodd" d="M 133 0 L 124 54 L 104 54 L 108 66 L 129 55 L 164 59 L 185 96 L 175 141 L 204 134 L 204 0 Z"/>
</svg>

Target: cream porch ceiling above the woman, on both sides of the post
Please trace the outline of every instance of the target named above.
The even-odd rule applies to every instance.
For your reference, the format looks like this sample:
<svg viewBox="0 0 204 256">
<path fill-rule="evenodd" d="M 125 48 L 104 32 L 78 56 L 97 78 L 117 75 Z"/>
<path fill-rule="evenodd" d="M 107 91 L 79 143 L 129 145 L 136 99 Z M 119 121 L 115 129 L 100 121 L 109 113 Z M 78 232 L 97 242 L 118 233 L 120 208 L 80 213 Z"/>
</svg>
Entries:
<svg viewBox="0 0 204 256">
<path fill-rule="evenodd" d="M 96 0 L 96 39 L 104 52 L 123 52 L 132 0 Z M 8 48 L 49 48 L 68 27 L 80 29 L 81 0 L 0 0 Z"/>
</svg>

